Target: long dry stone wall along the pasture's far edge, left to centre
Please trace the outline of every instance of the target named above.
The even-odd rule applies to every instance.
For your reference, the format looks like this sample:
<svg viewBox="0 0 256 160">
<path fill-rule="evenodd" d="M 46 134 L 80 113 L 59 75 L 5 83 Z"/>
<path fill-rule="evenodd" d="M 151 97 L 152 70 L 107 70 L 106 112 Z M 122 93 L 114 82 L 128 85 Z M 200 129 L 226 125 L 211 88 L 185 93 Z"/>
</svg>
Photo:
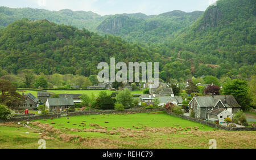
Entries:
<svg viewBox="0 0 256 160">
<path fill-rule="evenodd" d="M 61 116 L 77 116 L 77 115 L 99 115 L 99 114 L 125 114 L 125 113 L 150 113 L 155 111 L 164 111 L 164 109 L 129 109 L 124 111 L 115 111 L 115 110 L 102 110 L 102 111 L 76 111 L 68 114 L 48 114 L 48 115 L 30 115 L 30 116 L 19 116 L 13 117 L 10 120 L 1 120 L 3 122 L 22 122 L 24 120 L 39 120 L 39 119 L 50 119 L 50 118 L 59 118 Z"/>
</svg>

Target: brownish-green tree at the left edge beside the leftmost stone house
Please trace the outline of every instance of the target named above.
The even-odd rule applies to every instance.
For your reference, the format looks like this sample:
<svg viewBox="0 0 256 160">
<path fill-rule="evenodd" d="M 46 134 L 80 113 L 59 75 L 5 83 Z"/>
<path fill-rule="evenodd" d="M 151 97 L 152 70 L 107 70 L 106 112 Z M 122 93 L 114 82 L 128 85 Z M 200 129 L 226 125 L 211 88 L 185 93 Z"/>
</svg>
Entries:
<svg viewBox="0 0 256 160">
<path fill-rule="evenodd" d="M 0 103 L 8 107 L 22 105 L 23 96 L 16 92 L 16 87 L 8 80 L 0 80 Z"/>
</svg>

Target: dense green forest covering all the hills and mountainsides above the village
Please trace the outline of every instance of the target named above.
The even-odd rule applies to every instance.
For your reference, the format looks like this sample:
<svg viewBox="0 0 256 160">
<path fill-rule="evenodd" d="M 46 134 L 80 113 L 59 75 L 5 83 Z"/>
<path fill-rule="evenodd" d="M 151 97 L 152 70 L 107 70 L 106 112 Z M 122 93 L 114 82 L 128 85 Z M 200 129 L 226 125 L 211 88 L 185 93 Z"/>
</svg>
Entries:
<svg viewBox="0 0 256 160">
<path fill-rule="evenodd" d="M 60 73 L 89 77 L 97 75 L 98 63 L 109 62 L 110 57 L 115 57 L 117 62 L 160 62 L 160 78 L 171 83 L 207 75 L 219 79 L 229 77 L 250 80 L 256 71 L 254 2 L 220 0 L 203 15 L 200 12 L 172 11 L 156 16 L 122 14 L 104 18 L 92 12 L 51 12 L 1 7 L 0 13 L 3 16 L 0 19 L 3 28 L 0 30 L 0 77 L 10 73 L 17 75 L 24 69 L 33 70 L 35 74 Z M 34 21 L 46 15 L 47 20 Z M 79 15 L 84 20 L 77 26 L 75 21 L 80 21 Z M 16 20 L 23 16 L 28 19 Z M 161 26 L 156 25 L 158 20 L 154 19 L 167 17 L 170 21 L 167 19 L 166 23 L 159 23 Z M 73 21 L 65 22 L 67 18 L 73 18 Z M 111 24 L 109 21 L 117 19 L 125 19 L 121 23 L 121 29 L 115 30 L 111 25 L 105 28 Z M 141 20 L 144 22 L 139 22 Z M 148 25 L 150 20 L 152 23 Z M 51 21 L 74 23 L 76 27 Z M 79 29 L 86 23 L 90 26 Z M 133 28 L 130 23 L 141 25 Z M 193 24 L 188 25 L 189 23 Z M 9 25 L 5 27 L 7 24 Z M 168 29 L 168 25 L 172 31 Z M 129 38 L 129 34 L 137 32 L 145 33 L 145 37 L 140 39 L 133 36 L 135 41 L 140 42 L 131 44 L 120 37 L 100 36 L 100 33 L 87 29 L 95 27 L 114 35 L 122 34 L 122 38 Z M 152 29 L 152 32 L 148 32 L 151 36 L 147 37 L 147 29 Z M 155 31 L 159 37 L 153 34 Z M 147 41 L 150 37 L 162 42 L 159 44 Z M 147 43 L 142 43 L 143 41 Z"/>
</svg>

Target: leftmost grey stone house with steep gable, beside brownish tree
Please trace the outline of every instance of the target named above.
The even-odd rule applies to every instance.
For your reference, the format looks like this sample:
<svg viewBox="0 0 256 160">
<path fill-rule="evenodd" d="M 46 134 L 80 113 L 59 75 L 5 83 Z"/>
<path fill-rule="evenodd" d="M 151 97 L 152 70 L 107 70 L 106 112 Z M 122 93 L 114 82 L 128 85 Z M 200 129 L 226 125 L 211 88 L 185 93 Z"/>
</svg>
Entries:
<svg viewBox="0 0 256 160">
<path fill-rule="evenodd" d="M 24 95 L 23 93 L 23 97 L 24 97 L 23 106 L 19 105 L 19 107 L 22 109 L 36 109 L 40 105 L 38 98 L 33 96 L 31 93 L 28 93 L 26 95 Z"/>
</svg>

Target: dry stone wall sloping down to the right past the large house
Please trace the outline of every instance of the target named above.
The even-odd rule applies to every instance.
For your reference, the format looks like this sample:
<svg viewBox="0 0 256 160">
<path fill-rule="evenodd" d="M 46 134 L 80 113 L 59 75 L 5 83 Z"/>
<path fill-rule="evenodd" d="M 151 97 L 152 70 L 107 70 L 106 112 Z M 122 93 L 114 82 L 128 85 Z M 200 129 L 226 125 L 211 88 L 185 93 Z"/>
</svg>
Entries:
<svg viewBox="0 0 256 160">
<path fill-rule="evenodd" d="M 217 124 L 214 124 L 214 123 L 206 122 L 205 120 L 201 120 L 201 119 L 198 119 L 198 118 L 192 118 L 190 116 L 175 115 L 174 113 L 171 113 L 170 111 L 166 111 L 166 113 L 169 114 L 169 115 L 172 115 L 172 116 L 177 116 L 179 118 L 187 119 L 187 120 L 197 122 L 197 123 L 200 123 L 200 124 L 205 124 L 209 127 L 224 129 L 226 131 L 256 131 L 256 127 L 243 127 L 243 128 L 225 127 L 225 126 L 217 125 Z"/>
</svg>

